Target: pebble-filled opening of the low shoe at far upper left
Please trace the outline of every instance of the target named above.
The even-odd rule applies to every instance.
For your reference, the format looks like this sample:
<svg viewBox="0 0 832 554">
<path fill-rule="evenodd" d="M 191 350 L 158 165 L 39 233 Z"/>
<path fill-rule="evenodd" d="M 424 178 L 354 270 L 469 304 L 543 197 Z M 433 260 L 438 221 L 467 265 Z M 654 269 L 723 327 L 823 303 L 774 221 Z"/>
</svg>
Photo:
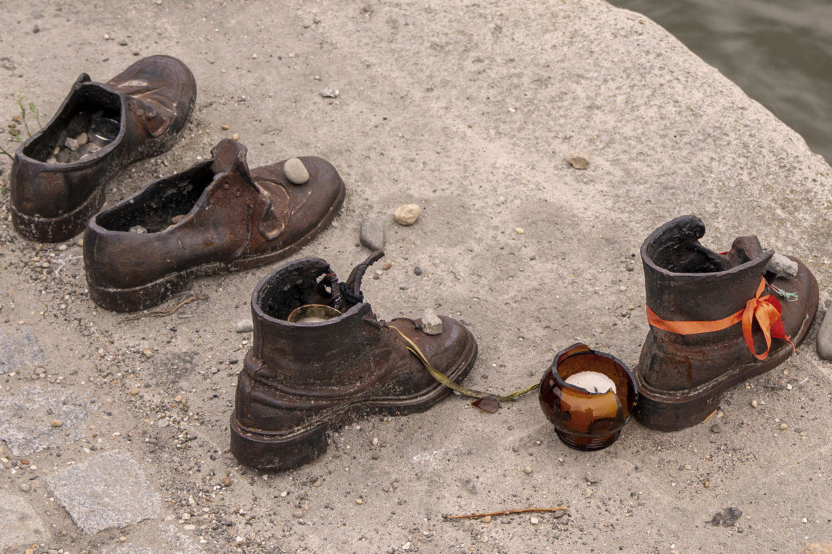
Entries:
<svg viewBox="0 0 832 554">
<path fill-rule="evenodd" d="M 23 154 L 47 164 L 72 164 L 109 145 L 120 130 L 119 96 L 101 86 L 82 86 Z"/>
</svg>

